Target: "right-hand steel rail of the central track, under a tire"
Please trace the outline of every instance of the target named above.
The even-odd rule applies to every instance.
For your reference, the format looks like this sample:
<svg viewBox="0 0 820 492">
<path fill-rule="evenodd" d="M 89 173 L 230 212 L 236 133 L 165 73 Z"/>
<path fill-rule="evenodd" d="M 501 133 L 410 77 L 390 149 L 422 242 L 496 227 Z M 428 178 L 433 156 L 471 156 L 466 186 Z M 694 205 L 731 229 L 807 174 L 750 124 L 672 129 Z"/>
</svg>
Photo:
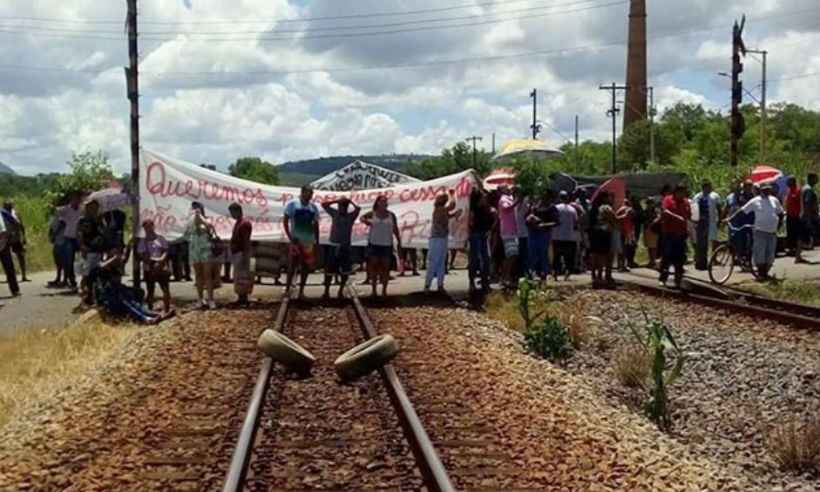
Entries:
<svg viewBox="0 0 820 492">
<path fill-rule="evenodd" d="M 348 288 L 350 298 L 353 301 L 353 308 L 356 312 L 356 317 L 359 319 L 359 324 L 362 327 L 367 338 L 378 336 L 378 332 L 373 326 L 373 321 L 368 316 L 367 311 L 362 305 L 356 290 L 352 287 Z M 428 490 L 433 492 L 451 492 L 455 488 L 450 482 L 450 477 L 441 458 L 438 455 L 430 436 L 424 430 L 424 425 L 421 423 L 419 416 L 416 414 L 410 398 L 404 391 L 404 387 L 399 380 L 396 370 L 392 364 L 387 364 L 379 369 L 384 386 L 396 409 L 396 414 L 399 417 L 404 436 L 410 444 L 410 449 L 413 451 L 413 456 L 416 458 L 416 464 L 419 466 L 422 477 Z"/>
</svg>

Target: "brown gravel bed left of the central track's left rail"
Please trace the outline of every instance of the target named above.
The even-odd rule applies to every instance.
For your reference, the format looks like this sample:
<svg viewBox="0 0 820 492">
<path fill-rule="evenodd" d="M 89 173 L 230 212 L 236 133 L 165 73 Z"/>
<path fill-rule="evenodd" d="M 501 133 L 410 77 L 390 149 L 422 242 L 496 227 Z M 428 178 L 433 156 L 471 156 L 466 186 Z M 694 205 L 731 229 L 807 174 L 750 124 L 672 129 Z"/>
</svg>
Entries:
<svg viewBox="0 0 820 492">
<path fill-rule="evenodd" d="M 0 490 L 213 490 L 258 372 L 269 309 L 194 312 L 0 432 Z"/>
</svg>

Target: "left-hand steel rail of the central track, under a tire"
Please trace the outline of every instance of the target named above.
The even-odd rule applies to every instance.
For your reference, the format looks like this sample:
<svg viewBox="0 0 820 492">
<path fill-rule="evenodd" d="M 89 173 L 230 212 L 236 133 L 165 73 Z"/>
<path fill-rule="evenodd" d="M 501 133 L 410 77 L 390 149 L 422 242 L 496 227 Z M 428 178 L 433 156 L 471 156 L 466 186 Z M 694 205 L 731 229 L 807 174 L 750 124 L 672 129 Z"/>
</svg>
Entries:
<svg viewBox="0 0 820 492">
<path fill-rule="evenodd" d="M 282 299 L 282 303 L 279 305 L 279 311 L 276 314 L 276 321 L 274 322 L 274 329 L 276 331 L 281 332 L 284 328 L 289 306 L 290 298 L 285 295 Z M 245 478 L 253 453 L 253 443 L 256 439 L 256 431 L 259 429 L 259 417 L 265 402 L 265 395 L 270 386 L 270 375 L 273 365 L 273 360 L 270 357 L 265 357 L 262 361 L 259 376 L 256 378 L 256 386 L 253 388 L 251 401 L 248 404 L 248 412 L 245 414 L 245 420 L 242 422 L 239 439 L 237 440 L 236 448 L 234 448 L 231 465 L 222 487 L 223 492 L 238 492 L 245 487 Z"/>
</svg>

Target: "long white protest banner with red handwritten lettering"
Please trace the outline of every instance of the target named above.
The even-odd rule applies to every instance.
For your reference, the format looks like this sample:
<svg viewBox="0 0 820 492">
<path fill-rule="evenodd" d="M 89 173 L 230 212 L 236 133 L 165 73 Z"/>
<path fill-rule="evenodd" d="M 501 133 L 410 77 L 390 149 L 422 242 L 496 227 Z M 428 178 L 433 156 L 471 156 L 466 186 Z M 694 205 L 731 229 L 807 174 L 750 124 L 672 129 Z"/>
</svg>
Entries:
<svg viewBox="0 0 820 492">
<path fill-rule="evenodd" d="M 470 191 L 476 185 L 472 171 L 465 171 L 432 181 L 378 190 L 316 191 L 313 201 L 321 212 L 321 241 L 326 241 L 330 233 L 330 217 L 322 211 L 322 202 L 346 196 L 358 204 L 364 214 L 371 210 L 378 196 L 385 195 L 390 210 L 398 219 L 402 245 L 426 248 L 433 201 L 437 195 L 454 190 L 456 206 L 462 214 L 450 222 L 450 244 L 463 246 L 468 234 Z M 205 207 L 208 221 L 219 236 L 229 238 L 234 221 L 228 213 L 228 206 L 236 202 L 242 205 L 245 216 L 253 222 L 253 240 L 286 242 L 282 217 L 285 205 L 299 196 L 299 188 L 262 185 L 142 150 L 139 193 L 140 219 L 152 219 L 157 232 L 168 239 L 179 238 L 185 233 L 191 220 L 191 202 L 194 201 Z M 360 222 L 353 228 L 353 244 L 367 244 L 367 227 Z"/>
</svg>

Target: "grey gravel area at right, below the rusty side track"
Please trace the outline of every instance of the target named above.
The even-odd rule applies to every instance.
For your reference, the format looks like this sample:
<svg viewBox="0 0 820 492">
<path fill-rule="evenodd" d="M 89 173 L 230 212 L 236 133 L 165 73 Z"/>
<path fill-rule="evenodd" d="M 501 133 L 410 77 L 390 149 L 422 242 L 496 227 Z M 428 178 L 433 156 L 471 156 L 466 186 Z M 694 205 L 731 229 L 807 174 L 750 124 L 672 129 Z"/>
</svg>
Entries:
<svg viewBox="0 0 820 492">
<path fill-rule="evenodd" d="M 624 320 L 640 328 L 646 310 L 670 326 L 687 357 L 683 377 L 669 389 L 672 437 L 747 477 L 754 490 L 820 490 L 820 475 L 780 471 L 767 447 L 775 426 L 820 408 L 820 334 L 635 292 L 582 292 L 572 306 L 604 323 L 565 367 L 611 405 L 640 412 L 641 396 L 618 383 L 613 358 L 635 341 Z"/>
</svg>

